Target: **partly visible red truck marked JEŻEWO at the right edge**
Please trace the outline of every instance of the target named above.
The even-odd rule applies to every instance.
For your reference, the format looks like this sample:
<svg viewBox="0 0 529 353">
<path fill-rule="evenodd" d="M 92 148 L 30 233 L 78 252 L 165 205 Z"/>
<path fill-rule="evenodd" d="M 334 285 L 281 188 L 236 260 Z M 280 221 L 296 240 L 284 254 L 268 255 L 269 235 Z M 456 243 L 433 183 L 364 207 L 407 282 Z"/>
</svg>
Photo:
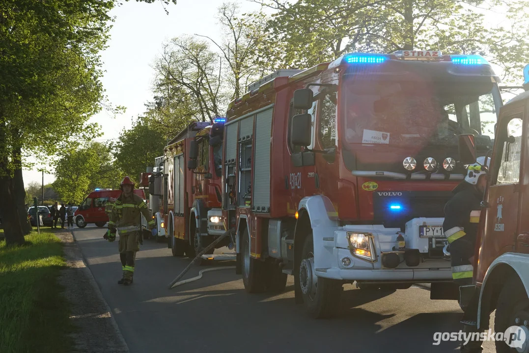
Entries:
<svg viewBox="0 0 529 353">
<path fill-rule="evenodd" d="M 465 306 L 479 295 L 478 328 L 489 328 L 495 309 L 495 332 L 517 327 L 508 338 L 519 340 L 516 350 L 496 341 L 497 352 L 529 352 L 529 65 L 524 77 L 525 92 L 501 108 L 494 148 L 486 155 L 491 159 L 476 240 L 475 284 L 461 287 Z M 464 163 L 485 156 L 476 152 L 474 139 L 462 136 Z"/>
</svg>

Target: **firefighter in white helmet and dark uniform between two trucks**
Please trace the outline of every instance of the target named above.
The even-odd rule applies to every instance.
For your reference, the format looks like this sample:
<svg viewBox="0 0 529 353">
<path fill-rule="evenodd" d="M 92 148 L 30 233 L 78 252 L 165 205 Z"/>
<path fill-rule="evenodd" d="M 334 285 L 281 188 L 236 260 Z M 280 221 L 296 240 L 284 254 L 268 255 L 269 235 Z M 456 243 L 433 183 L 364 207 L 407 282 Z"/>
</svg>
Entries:
<svg viewBox="0 0 529 353">
<path fill-rule="evenodd" d="M 461 321 L 466 332 L 476 332 L 478 298 L 473 291 L 470 298 L 463 300 L 465 289 L 472 286 L 474 253 L 481 209 L 481 201 L 487 185 L 487 171 L 490 159 L 478 157 L 476 163 L 468 166 L 464 182 L 454 188 L 454 196 L 444 206 L 443 231 L 448 240 L 452 279 L 460 287 L 460 306 L 464 310 Z M 474 297 L 472 297 L 474 295 Z M 468 303 L 468 304 L 467 304 Z M 461 352 L 481 352 L 481 341 L 470 341 L 461 346 Z"/>
</svg>

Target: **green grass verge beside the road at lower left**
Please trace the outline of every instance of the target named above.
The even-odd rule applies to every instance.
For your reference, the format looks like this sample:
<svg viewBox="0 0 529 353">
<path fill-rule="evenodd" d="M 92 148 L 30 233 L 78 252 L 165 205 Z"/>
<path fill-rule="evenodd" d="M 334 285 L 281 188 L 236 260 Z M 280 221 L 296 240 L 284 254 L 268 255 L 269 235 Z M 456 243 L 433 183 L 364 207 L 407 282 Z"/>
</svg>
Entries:
<svg viewBox="0 0 529 353">
<path fill-rule="evenodd" d="M 74 327 L 57 283 L 66 265 L 62 245 L 50 228 L 25 240 L 13 247 L 0 241 L 0 351 L 71 351 Z"/>
</svg>

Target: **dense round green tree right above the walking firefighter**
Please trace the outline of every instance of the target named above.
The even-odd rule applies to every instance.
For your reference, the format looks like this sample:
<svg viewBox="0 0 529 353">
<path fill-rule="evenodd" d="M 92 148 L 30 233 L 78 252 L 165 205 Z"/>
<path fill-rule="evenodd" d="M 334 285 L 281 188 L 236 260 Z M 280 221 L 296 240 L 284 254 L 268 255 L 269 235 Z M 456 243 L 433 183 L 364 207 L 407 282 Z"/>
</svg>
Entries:
<svg viewBox="0 0 529 353">
<path fill-rule="evenodd" d="M 115 165 L 136 183 L 145 167 L 154 165 L 154 158 L 163 154 L 165 140 L 160 134 L 138 119 L 128 130 L 123 130 L 120 139 L 113 146 Z"/>
</svg>

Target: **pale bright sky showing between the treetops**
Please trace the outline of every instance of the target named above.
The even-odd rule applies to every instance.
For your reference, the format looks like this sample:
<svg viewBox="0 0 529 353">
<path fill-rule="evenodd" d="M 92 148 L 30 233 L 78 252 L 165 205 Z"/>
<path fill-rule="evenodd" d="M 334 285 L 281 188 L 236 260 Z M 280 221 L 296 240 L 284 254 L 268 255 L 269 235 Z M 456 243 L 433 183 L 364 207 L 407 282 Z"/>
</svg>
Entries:
<svg viewBox="0 0 529 353">
<path fill-rule="evenodd" d="M 124 2 L 111 12 L 115 22 L 110 31 L 108 48 L 101 53 L 103 87 L 108 102 L 113 106 L 126 107 L 125 113 L 113 117 L 103 110 L 90 119 L 102 127 L 104 135 L 96 140 L 104 141 L 119 137 L 123 128 L 131 126 L 133 120 L 145 111 L 144 104 L 152 99 L 152 64 L 161 54 L 162 43 L 184 34 L 203 34 L 219 38 L 217 8 L 223 0 L 178 0 L 177 5 L 167 6 L 169 15 L 160 2 Z M 259 5 L 247 0 L 237 1 L 242 12 L 257 11 Z M 500 13 L 489 14 L 491 22 L 501 23 Z M 492 18 L 494 17 L 494 18 Z M 490 22 L 488 22 L 490 23 Z M 36 161 L 45 163 L 46 161 Z M 41 183 L 42 174 L 35 166 L 23 170 L 24 184 Z M 49 168 L 49 167 L 48 167 Z M 53 182 L 52 174 L 44 174 L 44 184 Z"/>
</svg>

